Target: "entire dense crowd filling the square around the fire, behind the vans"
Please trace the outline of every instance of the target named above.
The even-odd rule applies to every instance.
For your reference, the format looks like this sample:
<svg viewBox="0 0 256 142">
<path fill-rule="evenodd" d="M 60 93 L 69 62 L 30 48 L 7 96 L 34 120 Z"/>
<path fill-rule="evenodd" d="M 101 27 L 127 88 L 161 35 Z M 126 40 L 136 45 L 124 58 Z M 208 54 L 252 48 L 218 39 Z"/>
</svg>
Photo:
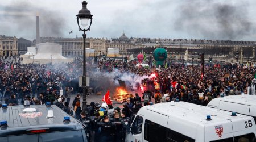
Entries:
<svg viewBox="0 0 256 142">
<path fill-rule="evenodd" d="M 96 61 L 92 59 L 87 62 L 90 73 L 98 68 L 102 73 L 118 70 L 148 77 L 138 82 L 135 95 L 131 94 L 122 108 L 91 102 L 86 113 L 80 106 L 80 94 L 69 106 L 71 95 L 81 91 L 78 88 L 81 59 L 70 64 L 20 64 L 21 60 L 19 57 L 0 59 L 0 101 L 9 106 L 22 105 L 25 100 L 33 105 L 51 102 L 87 124 L 94 141 L 124 141 L 131 119 L 142 106 L 170 101 L 206 106 L 213 98 L 247 94 L 255 74 L 255 68 L 250 65 L 205 65 L 202 74 L 200 65 L 168 62 L 161 68 L 154 65 L 143 68 L 135 66 L 135 61 L 99 59 L 94 64 Z M 92 87 L 95 89 L 97 83 L 92 82 Z"/>
</svg>

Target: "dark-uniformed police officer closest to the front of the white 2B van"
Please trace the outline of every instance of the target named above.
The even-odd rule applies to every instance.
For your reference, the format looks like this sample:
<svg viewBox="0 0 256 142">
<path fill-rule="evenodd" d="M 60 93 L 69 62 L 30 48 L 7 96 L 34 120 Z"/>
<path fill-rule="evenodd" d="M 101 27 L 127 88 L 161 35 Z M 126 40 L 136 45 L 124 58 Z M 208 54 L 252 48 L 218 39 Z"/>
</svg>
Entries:
<svg viewBox="0 0 256 142">
<path fill-rule="evenodd" d="M 114 119 L 110 120 L 115 123 L 117 129 L 115 130 L 114 135 L 114 142 L 121 142 L 123 141 L 123 127 L 125 127 L 125 123 L 120 119 L 119 113 L 114 114 Z"/>
</svg>

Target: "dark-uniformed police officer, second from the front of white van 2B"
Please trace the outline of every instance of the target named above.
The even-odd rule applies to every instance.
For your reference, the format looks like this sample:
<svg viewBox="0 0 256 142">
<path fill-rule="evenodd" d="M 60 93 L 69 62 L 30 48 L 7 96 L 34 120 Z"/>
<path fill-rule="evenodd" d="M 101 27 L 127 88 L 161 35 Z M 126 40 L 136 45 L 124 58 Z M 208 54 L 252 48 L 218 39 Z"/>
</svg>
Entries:
<svg viewBox="0 0 256 142">
<path fill-rule="evenodd" d="M 100 142 L 113 142 L 113 135 L 117 127 L 115 123 L 109 122 L 109 117 L 104 115 L 104 122 L 97 122 L 97 127 L 101 129 Z"/>
</svg>

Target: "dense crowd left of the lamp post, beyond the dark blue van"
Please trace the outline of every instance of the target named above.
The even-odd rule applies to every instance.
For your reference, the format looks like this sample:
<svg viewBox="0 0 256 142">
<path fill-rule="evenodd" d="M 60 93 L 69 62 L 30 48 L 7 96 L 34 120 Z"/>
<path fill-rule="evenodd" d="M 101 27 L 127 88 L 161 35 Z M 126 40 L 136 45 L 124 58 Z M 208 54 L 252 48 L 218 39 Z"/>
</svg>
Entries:
<svg viewBox="0 0 256 142">
<path fill-rule="evenodd" d="M 81 63 L 21 64 L 20 60 L 19 57 L 4 57 L 0 61 L 0 103 L 22 105 L 24 100 L 32 101 L 32 97 L 36 97 L 40 104 L 53 103 L 60 90 L 63 90 L 63 95 L 69 91 L 67 87 L 81 91 L 78 87 Z M 10 103 L 11 95 L 17 102 Z M 70 100 L 69 93 L 66 98 Z"/>
</svg>

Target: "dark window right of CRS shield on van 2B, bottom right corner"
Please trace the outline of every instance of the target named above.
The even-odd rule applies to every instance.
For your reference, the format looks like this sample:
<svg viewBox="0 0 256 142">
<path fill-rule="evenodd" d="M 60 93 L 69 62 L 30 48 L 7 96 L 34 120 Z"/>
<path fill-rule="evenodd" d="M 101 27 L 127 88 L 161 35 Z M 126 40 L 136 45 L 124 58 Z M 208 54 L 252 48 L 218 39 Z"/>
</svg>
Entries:
<svg viewBox="0 0 256 142">
<path fill-rule="evenodd" d="M 228 139 L 222 139 L 222 140 L 215 140 L 212 142 L 242 142 L 242 141 L 255 141 L 255 135 L 254 133 L 249 133 L 247 135 L 242 135 L 242 136 L 236 136 L 234 137 L 230 137 Z"/>
</svg>

